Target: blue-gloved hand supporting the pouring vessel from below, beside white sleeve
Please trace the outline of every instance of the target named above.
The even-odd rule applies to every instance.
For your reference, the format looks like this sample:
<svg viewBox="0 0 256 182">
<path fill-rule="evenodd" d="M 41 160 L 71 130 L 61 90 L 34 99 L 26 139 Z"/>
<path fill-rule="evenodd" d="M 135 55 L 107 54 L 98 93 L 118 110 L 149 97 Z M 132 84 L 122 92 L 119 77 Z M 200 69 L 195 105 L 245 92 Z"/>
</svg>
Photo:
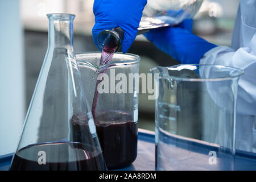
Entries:
<svg viewBox="0 0 256 182">
<path fill-rule="evenodd" d="M 178 26 L 151 30 L 144 35 L 181 64 L 198 64 L 204 53 L 216 45 L 193 35 L 192 24 L 192 19 L 186 19 Z"/>
</svg>

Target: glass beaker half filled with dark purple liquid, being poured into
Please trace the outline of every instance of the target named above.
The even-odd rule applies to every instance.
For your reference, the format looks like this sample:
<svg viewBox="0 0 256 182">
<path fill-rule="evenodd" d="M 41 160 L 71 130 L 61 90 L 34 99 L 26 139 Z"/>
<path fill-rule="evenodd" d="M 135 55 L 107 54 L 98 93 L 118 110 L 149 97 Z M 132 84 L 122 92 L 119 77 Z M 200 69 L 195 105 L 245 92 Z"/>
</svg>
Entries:
<svg viewBox="0 0 256 182">
<path fill-rule="evenodd" d="M 91 107 L 96 82 L 103 77 L 93 115 L 106 165 L 108 169 L 128 166 L 137 157 L 140 57 L 117 52 L 100 67 L 101 52 L 77 53 L 76 57 Z"/>
</svg>

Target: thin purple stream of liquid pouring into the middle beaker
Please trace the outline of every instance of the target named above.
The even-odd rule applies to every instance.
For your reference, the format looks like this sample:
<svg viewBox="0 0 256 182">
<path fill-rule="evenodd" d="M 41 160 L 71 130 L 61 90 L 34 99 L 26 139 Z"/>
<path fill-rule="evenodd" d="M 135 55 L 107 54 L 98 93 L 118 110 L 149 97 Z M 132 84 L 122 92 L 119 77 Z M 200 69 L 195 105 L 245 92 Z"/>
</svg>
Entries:
<svg viewBox="0 0 256 182">
<path fill-rule="evenodd" d="M 117 47 L 111 47 L 110 48 L 110 47 L 106 47 L 105 46 L 102 49 L 100 66 L 104 65 L 104 64 L 108 64 L 112 60 L 112 57 L 114 56 L 116 48 Z M 100 72 L 100 73 L 105 73 L 105 72 L 106 72 L 106 69 L 104 71 Z M 96 107 L 97 107 L 97 102 L 98 102 L 98 85 L 101 83 L 101 81 L 102 81 L 102 79 L 101 80 L 97 80 L 96 87 L 95 87 L 95 92 L 94 92 L 94 96 L 93 96 L 92 115 L 93 115 L 94 119 L 95 119 Z"/>
</svg>

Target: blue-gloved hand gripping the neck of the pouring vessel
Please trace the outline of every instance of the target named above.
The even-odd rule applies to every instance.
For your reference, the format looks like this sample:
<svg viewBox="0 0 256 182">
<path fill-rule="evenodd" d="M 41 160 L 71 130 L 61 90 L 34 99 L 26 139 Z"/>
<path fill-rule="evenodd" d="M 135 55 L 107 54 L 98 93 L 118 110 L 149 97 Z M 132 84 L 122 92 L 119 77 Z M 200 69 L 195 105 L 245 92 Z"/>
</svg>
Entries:
<svg viewBox="0 0 256 182">
<path fill-rule="evenodd" d="M 92 29 L 94 43 L 98 46 L 97 36 L 102 30 L 121 27 L 122 52 L 126 53 L 137 36 L 146 3 L 147 0 L 94 0 L 95 24 Z"/>
</svg>

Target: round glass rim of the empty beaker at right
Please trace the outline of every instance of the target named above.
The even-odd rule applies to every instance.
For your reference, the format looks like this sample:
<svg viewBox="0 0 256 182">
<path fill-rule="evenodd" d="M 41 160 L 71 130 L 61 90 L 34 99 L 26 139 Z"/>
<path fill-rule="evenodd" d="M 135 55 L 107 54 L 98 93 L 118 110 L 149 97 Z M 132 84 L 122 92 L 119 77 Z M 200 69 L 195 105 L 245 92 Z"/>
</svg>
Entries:
<svg viewBox="0 0 256 182">
<path fill-rule="evenodd" d="M 178 68 L 180 67 L 180 68 Z M 151 73 L 155 73 L 154 70 L 159 68 L 167 69 L 168 71 L 181 71 L 182 69 L 189 69 L 191 71 L 198 70 L 199 67 L 209 67 L 209 68 L 218 68 L 218 69 L 228 69 L 229 75 L 228 76 L 219 76 L 219 77 L 209 77 L 209 78 L 187 78 L 187 77 L 179 77 L 179 76 L 172 76 L 172 75 L 159 75 L 159 78 L 172 78 L 177 81 L 224 81 L 224 80 L 232 80 L 233 78 L 239 78 L 243 75 L 244 71 L 240 68 L 230 67 L 226 65 L 214 65 L 214 64 L 177 64 L 171 67 L 155 67 L 150 69 Z M 196 68 L 196 69 L 195 69 Z M 160 72 L 159 72 L 160 73 Z M 231 74 L 233 73 L 233 74 Z"/>
</svg>

